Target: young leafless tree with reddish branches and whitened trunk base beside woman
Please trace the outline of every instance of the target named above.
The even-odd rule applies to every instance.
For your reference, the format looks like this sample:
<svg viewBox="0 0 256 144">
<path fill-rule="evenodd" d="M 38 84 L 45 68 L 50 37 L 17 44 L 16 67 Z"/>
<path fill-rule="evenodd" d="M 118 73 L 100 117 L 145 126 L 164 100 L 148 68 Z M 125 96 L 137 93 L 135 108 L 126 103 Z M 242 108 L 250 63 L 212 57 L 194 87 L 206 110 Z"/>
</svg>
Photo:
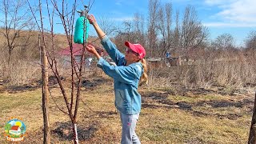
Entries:
<svg viewBox="0 0 256 144">
<path fill-rule="evenodd" d="M 28 1 L 28 0 L 27 0 Z M 86 41 L 83 43 L 83 49 L 81 50 L 81 58 L 79 62 L 74 58 L 74 50 L 73 50 L 73 34 L 74 34 L 74 16 L 76 13 L 77 1 L 67 2 L 62 0 L 61 2 L 57 0 L 46 0 L 46 9 L 42 9 L 42 1 L 39 0 L 38 8 L 40 13 L 40 21 L 38 24 L 38 29 L 42 35 L 42 45 L 46 47 L 46 56 L 48 59 L 49 69 L 54 74 L 54 77 L 58 81 L 59 89 L 62 93 L 62 98 L 65 102 L 66 110 L 64 107 L 59 106 L 58 102 L 54 100 L 58 110 L 62 111 L 66 114 L 70 121 L 72 122 L 72 130 L 74 134 L 74 143 L 78 143 L 78 130 L 77 130 L 77 122 L 78 122 L 78 106 L 80 100 L 81 86 L 82 86 L 82 70 L 85 66 L 85 46 Z M 52 8 L 51 8 L 52 7 Z M 38 22 L 36 14 L 32 10 L 30 6 L 30 10 L 34 15 L 34 19 Z M 48 18 L 43 18 L 42 13 L 43 10 L 46 10 L 48 14 Z M 58 67 L 58 51 L 56 50 L 55 45 L 55 22 L 57 18 L 61 20 L 62 28 L 66 34 L 67 44 L 70 46 L 70 74 L 67 74 L 70 79 L 70 85 L 64 86 L 62 75 L 60 74 L 60 70 Z M 46 29 L 45 22 L 50 24 L 50 30 Z M 45 32 L 46 31 L 46 32 Z M 86 31 L 86 29 L 85 29 Z"/>
</svg>

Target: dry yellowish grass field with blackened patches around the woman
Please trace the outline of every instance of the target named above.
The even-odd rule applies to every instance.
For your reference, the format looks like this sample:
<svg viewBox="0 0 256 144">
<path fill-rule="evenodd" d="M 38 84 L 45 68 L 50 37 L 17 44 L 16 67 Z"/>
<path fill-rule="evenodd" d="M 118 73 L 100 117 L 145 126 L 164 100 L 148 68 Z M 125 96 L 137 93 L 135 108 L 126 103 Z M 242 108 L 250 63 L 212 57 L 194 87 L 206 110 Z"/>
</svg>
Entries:
<svg viewBox="0 0 256 144">
<path fill-rule="evenodd" d="M 81 143 L 119 143 L 121 125 L 114 107 L 113 82 L 89 79 L 82 87 L 78 110 Z M 226 88 L 188 90 L 182 86 L 139 88 L 142 112 L 137 134 L 142 143 L 247 143 L 254 91 Z M 51 92 L 58 104 L 64 100 L 58 87 Z M 40 87 L 10 87 L 0 93 L 0 131 L 11 117 L 22 118 L 26 138 L 22 143 L 42 143 L 42 91 Z M 50 98 L 52 143 L 72 143 L 70 121 Z M 1 134 L 0 143 L 8 143 Z"/>
</svg>

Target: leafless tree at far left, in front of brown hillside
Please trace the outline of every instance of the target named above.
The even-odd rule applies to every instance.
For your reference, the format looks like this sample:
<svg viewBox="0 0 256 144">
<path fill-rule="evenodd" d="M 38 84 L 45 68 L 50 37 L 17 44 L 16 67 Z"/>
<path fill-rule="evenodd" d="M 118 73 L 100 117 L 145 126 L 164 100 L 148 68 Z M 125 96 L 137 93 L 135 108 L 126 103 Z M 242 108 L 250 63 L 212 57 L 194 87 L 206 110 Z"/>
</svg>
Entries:
<svg viewBox="0 0 256 144">
<path fill-rule="evenodd" d="M 31 30 L 34 28 L 34 22 L 31 22 L 32 17 L 24 7 L 26 7 L 26 0 L 1 1 L 0 10 L 4 18 L 0 22 L 4 30 L 0 33 L 4 35 L 8 49 L 8 65 L 15 48 L 28 46 L 32 35 Z"/>
</svg>

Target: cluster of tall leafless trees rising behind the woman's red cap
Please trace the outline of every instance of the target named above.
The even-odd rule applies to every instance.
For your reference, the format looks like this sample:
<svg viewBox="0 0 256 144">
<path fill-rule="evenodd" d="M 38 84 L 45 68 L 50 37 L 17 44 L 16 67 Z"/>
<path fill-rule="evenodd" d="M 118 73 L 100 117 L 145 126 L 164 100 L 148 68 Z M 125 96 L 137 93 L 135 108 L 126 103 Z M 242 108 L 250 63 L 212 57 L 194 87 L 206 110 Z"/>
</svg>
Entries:
<svg viewBox="0 0 256 144">
<path fill-rule="evenodd" d="M 146 25 L 142 14 L 134 14 L 133 22 L 123 22 L 124 29 L 116 36 L 117 43 L 128 40 L 146 47 L 147 57 L 164 58 L 166 52 L 189 56 L 191 50 L 206 46 L 209 31 L 198 19 L 194 7 L 186 6 L 180 18 L 171 3 L 149 0 Z M 181 22 L 180 22 L 181 19 Z"/>
</svg>

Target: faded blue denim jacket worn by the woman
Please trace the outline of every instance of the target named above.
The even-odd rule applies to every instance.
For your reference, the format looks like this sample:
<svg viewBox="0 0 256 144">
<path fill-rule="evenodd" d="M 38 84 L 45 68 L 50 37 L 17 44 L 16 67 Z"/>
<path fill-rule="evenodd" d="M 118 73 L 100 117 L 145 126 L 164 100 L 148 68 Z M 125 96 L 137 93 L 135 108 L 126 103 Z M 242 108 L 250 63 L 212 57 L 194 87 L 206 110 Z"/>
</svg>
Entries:
<svg viewBox="0 0 256 144">
<path fill-rule="evenodd" d="M 102 39 L 102 46 L 117 65 L 110 66 L 103 58 L 97 64 L 107 75 L 114 78 L 116 108 L 122 114 L 138 114 L 142 105 L 141 95 L 138 94 L 138 82 L 143 74 L 142 63 L 135 62 L 126 66 L 125 55 L 106 36 Z"/>
</svg>

